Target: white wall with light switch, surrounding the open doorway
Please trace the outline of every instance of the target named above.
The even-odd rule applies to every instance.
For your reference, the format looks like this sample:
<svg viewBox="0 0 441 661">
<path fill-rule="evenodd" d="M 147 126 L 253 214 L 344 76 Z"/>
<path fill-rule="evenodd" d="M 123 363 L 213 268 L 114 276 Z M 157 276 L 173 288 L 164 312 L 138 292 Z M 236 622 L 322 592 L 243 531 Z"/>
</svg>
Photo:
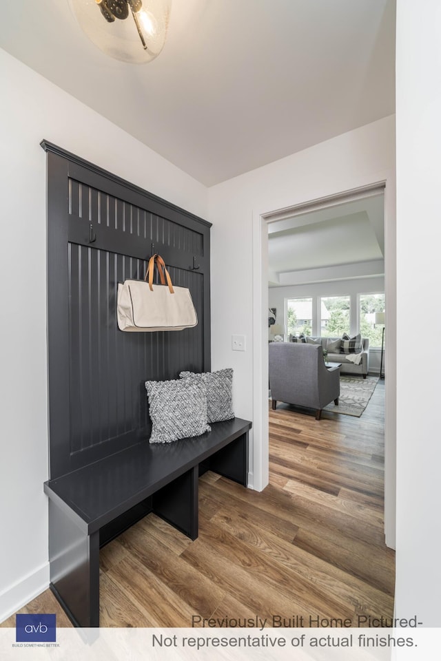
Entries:
<svg viewBox="0 0 441 661">
<path fill-rule="evenodd" d="M 212 229 L 212 362 L 235 370 L 236 415 L 253 420 L 254 487 L 265 465 L 267 443 L 267 228 L 263 214 L 334 193 L 386 182 L 384 193 L 389 300 L 387 379 L 387 541 L 394 539 L 395 454 L 395 125 L 390 116 L 305 149 L 209 189 Z M 263 266 L 262 266 L 263 260 Z M 266 280 L 267 282 L 267 280 Z M 247 338 L 245 353 L 233 352 L 231 335 Z"/>
</svg>

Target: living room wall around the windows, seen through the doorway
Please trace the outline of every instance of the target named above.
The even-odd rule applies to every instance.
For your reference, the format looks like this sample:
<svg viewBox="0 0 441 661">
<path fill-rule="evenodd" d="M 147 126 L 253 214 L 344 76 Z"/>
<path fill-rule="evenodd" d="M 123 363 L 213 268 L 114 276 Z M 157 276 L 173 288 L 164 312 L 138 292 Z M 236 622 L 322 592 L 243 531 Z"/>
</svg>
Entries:
<svg viewBox="0 0 441 661">
<path fill-rule="evenodd" d="M 384 277 L 366 277 L 356 280 L 337 280 L 314 284 L 290 285 L 285 287 L 270 287 L 268 305 L 277 310 L 277 322 L 286 328 L 285 301 L 289 298 L 312 297 L 318 304 L 320 296 L 350 296 L 351 297 L 351 328 L 348 332 L 357 332 L 358 294 L 368 294 L 384 291 Z M 312 329 L 312 335 L 320 335 L 318 329 Z M 369 352 L 369 371 L 380 373 L 381 351 L 372 349 Z"/>
</svg>

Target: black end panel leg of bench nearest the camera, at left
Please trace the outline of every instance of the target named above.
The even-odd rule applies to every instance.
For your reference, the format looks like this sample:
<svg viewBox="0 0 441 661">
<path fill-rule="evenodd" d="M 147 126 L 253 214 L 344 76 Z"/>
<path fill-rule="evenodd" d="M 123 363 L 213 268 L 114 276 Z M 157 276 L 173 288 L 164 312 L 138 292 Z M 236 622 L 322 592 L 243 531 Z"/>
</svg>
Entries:
<svg viewBox="0 0 441 661">
<path fill-rule="evenodd" d="M 75 518 L 50 499 L 50 589 L 76 627 L 99 627 L 99 531 L 89 535 Z"/>
</svg>

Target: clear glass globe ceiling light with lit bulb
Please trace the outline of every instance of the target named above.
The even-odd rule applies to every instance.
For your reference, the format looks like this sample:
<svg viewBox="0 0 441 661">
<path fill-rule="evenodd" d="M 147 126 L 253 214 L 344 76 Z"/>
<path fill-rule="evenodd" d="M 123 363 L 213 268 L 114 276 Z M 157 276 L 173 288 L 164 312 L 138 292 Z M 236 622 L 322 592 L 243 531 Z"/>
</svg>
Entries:
<svg viewBox="0 0 441 661">
<path fill-rule="evenodd" d="M 106 55 L 151 62 L 163 50 L 172 0 L 70 0 L 83 32 Z"/>
</svg>

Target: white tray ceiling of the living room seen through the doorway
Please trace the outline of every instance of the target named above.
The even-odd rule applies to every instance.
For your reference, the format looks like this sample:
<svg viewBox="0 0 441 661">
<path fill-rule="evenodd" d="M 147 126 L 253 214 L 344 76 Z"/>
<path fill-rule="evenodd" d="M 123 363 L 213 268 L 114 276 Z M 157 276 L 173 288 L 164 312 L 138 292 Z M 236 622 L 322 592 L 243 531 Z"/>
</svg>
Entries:
<svg viewBox="0 0 441 661">
<path fill-rule="evenodd" d="M 269 224 L 270 286 L 384 274 L 384 195 Z"/>
</svg>

